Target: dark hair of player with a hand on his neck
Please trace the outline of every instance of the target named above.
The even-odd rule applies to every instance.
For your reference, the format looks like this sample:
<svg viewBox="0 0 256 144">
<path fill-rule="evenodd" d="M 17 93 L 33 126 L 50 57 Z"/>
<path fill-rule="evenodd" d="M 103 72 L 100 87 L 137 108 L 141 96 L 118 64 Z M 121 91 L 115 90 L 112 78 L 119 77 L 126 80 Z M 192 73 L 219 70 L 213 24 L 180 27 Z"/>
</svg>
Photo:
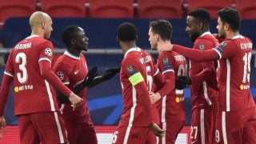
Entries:
<svg viewBox="0 0 256 144">
<path fill-rule="evenodd" d="M 151 30 L 154 34 L 159 34 L 162 40 L 170 40 L 173 34 L 173 26 L 165 19 L 150 22 Z"/>
</svg>

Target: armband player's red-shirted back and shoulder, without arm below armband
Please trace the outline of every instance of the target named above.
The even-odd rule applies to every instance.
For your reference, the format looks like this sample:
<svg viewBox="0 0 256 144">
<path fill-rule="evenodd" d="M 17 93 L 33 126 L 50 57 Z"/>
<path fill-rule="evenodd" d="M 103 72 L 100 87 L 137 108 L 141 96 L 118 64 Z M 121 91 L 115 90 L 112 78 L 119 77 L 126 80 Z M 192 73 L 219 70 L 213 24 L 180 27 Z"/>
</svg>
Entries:
<svg viewBox="0 0 256 144">
<path fill-rule="evenodd" d="M 139 92 L 132 86 L 129 78 L 131 75 L 140 72 L 144 82 L 147 82 L 148 90 L 150 90 L 154 77 L 153 67 L 153 58 L 146 51 L 137 47 L 126 52 L 120 72 L 124 107 L 120 122 L 123 125 L 129 122 L 133 126 L 149 126 L 150 120 L 146 118 L 146 111 L 143 109 L 141 98 L 138 96 Z"/>
</svg>

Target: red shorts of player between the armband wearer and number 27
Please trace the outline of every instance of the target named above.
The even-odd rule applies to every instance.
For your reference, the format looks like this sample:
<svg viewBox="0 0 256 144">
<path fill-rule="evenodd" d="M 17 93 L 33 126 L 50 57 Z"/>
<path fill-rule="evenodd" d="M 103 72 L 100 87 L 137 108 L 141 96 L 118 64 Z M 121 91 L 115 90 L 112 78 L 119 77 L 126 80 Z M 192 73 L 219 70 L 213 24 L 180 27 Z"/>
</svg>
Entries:
<svg viewBox="0 0 256 144">
<path fill-rule="evenodd" d="M 174 144 L 183 126 L 184 121 L 162 122 L 161 127 L 163 130 L 166 130 L 166 134 L 159 138 L 159 144 Z"/>
</svg>

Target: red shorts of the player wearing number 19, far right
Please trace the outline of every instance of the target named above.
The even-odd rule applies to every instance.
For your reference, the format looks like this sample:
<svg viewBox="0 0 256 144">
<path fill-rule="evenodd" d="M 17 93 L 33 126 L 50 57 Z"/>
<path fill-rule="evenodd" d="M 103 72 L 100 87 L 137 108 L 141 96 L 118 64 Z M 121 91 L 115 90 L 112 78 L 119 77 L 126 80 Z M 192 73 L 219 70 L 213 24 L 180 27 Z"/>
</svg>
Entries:
<svg viewBox="0 0 256 144">
<path fill-rule="evenodd" d="M 218 112 L 216 118 L 215 142 L 255 144 L 256 107 L 248 110 Z"/>
</svg>

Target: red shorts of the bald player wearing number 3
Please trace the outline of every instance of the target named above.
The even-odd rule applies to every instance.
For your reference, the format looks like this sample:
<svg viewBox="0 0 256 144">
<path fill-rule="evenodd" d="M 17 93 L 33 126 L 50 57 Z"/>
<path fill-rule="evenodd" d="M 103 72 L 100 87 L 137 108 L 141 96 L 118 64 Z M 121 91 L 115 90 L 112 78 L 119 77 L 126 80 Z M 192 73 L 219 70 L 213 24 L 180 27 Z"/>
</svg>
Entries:
<svg viewBox="0 0 256 144">
<path fill-rule="evenodd" d="M 21 144 L 66 143 L 66 129 L 59 112 L 40 112 L 18 116 Z"/>
</svg>

